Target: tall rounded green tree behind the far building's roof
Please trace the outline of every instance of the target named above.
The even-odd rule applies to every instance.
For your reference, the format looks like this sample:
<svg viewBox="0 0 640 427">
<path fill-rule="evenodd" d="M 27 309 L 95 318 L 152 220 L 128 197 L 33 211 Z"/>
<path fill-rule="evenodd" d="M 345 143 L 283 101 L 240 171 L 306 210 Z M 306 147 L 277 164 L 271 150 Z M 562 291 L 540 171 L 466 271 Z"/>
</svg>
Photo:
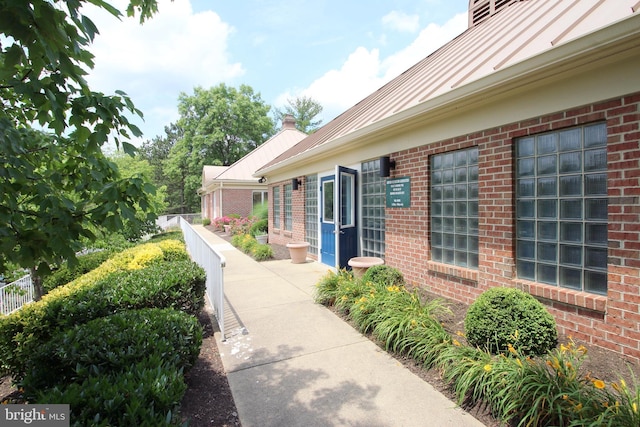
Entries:
<svg viewBox="0 0 640 427">
<path fill-rule="evenodd" d="M 177 125 L 184 135 L 171 149 L 165 171 L 183 180 L 185 209 L 199 212 L 204 165 L 231 165 L 273 135 L 271 107 L 247 85 L 196 87 L 193 95 L 181 93 L 178 99 Z"/>
</svg>

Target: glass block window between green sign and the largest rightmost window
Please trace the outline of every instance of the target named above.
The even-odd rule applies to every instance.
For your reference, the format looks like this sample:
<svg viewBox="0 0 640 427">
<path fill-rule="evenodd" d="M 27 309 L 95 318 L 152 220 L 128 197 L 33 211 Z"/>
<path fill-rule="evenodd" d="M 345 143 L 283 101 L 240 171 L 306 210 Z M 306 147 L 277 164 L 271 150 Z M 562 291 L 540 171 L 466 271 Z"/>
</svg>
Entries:
<svg viewBox="0 0 640 427">
<path fill-rule="evenodd" d="M 478 148 L 431 158 L 431 259 L 478 268 Z"/>
</svg>

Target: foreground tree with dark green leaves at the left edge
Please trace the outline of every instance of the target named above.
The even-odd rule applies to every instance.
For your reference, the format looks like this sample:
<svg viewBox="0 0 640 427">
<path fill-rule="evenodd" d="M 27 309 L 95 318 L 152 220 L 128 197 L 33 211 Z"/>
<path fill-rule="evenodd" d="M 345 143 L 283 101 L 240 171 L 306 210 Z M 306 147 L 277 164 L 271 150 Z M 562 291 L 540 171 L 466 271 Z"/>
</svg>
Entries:
<svg viewBox="0 0 640 427">
<path fill-rule="evenodd" d="M 140 136 L 127 114 L 142 115 L 123 92 L 94 92 L 85 76 L 98 33 L 82 14 L 93 4 L 120 18 L 103 0 L 0 0 L 0 270 L 6 262 L 32 268 L 36 294 L 51 263 L 76 262 L 94 230 L 154 213 L 155 189 L 123 178 L 101 148 L 113 141 L 127 153 Z M 156 0 L 130 0 L 140 20 Z"/>
</svg>

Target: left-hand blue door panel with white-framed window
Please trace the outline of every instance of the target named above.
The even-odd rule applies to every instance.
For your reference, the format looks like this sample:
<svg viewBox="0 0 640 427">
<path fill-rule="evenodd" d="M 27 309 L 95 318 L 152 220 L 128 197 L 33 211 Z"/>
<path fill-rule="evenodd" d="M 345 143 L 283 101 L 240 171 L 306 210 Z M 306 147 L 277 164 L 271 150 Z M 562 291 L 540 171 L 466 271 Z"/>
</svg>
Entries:
<svg viewBox="0 0 640 427">
<path fill-rule="evenodd" d="M 336 266 L 335 176 L 320 179 L 320 260 Z"/>
</svg>

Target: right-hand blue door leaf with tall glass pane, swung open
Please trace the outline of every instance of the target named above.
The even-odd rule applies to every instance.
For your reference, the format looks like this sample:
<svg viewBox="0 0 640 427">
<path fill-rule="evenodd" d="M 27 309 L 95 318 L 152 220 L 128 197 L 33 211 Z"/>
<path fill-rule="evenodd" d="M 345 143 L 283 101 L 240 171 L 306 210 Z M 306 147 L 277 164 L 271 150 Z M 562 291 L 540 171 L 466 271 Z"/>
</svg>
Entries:
<svg viewBox="0 0 640 427">
<path fill-rule="evenodd" d="M 349 259 L 358 256 L 358 171 L 336 167 L 337 179 L 337 256 L 340 268 L 347 268 Z"/>
</svg>

